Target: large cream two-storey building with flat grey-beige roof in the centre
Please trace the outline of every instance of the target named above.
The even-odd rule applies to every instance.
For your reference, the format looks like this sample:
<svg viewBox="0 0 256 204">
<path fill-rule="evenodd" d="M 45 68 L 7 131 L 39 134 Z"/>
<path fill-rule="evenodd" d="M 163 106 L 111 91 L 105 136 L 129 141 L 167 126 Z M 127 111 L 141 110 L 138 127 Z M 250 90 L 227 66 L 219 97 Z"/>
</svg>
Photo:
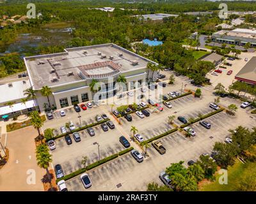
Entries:
<svg viewBox="0 0 256 204">
<path fill-rule="evenodd" d="M 124 76 L 127 84 L 131 82 L 128 89 L 134 89 L 136 82 L 142 85 L 147 82 L 147 77 L 152 76 L 152 71 L 147 68 L 148 62 L 157 65 L 113 43 L 68 48 L 63 53 L 25 57 L 24 61 L 31 86 L 38 91 L 40 110 L 44 110 L 44 104 L 48 103 L 47 98 L 40 94 L 40 89 L 46 85 L 52 90 L 51 105 L 60 109 L 93 100 L 95 93 L 90 89 L 93 79 L 106 85 L 97 93 L 99 99 L 105 99 L 118 92 L 115 87 L 118 76 Z M 157 71 L 151 78 L 156 80 Z M 113 82 L 109 83 L 110 79 Z"/>
</svg>

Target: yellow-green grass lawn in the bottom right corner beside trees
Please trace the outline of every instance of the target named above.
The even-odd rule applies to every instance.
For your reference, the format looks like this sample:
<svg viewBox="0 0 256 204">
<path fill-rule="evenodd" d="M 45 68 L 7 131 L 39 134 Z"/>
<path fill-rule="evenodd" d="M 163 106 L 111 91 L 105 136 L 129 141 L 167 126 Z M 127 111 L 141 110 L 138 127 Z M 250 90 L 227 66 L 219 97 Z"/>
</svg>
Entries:
<svg viewBox="0 0 256 204">
<path fill-rule="evenodd" d="M 216 175 L 216 180 L 211 184 L 203 185 L 199 191 L 234 191 L 234 187 L 237 182 L 241 180 L 243 171 L 246 169 L 246 164 L 236 160 L 234 166 L 228 167 L 228 184 L 219 184 L 219 178 L 221 175 Z"/>
</svg>

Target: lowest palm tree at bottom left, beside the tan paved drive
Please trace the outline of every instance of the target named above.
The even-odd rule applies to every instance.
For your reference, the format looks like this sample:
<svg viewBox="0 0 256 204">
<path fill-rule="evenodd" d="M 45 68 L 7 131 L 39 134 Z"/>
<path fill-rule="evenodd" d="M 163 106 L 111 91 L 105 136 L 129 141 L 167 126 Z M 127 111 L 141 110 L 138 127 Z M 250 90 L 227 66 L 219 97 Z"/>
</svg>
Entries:
<svg viewBox="0 0 256 204">
<path fill-rule="evenodd" d="M 51 154 L 48 151 L 47 145 L 42 144 L 36 147 L 36 161 L 37 161 L 37 165 L 40 168 L 44 168 L 46 170 L 48 182 L 50 183 L 51 189 L 52 189 L 51 174 L 48 170 L 49 164 L 52 162 L 52 158 L 51 158 Z"/>
</svg>

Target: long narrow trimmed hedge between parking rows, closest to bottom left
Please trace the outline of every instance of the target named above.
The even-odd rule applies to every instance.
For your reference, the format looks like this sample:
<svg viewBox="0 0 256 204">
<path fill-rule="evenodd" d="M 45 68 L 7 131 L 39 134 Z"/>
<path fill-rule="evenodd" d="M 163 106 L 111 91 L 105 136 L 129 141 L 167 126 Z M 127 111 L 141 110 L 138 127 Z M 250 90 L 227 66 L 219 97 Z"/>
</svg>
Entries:
<svg viewBox="0 0 256 204">
<path fill-rule="evenodd" d="M 78 175 L 80 175 L 81 173 L 84 173 L 88 170 L 92 170 L 93 168 L 96 168 L 97 166 L 100 166 L 101 164 L 104 164 L 104 163 L 107 163 L 108 161 L 111 161 L 115 158 L 117 158 L 118 156 L 122 156 L 128 152 L 130 152 L 132 149 L 134 149 L 133 147 L 130 147 L 128 149 L 125 149 L 121 152 L 118 152 L 116 154 L 113 154 L 109 157 L 106 157 L 104 159 L 101 159 L 100 161 L 96 161 L 95 163 L 92 163 L 92 164 L 89 164 L 88 166 L 86 166 L 86 168 L 81 168 L 77 171 L 74 171 L 68 175 L 65 175 L 64 177 L 60 178 L 60 179 L 56 179 L 56 183 L 58 183 L 60 180 L 69 180 L 69 179 L 72 179 L 74 177 L 77 177 Z"/>
</svg>

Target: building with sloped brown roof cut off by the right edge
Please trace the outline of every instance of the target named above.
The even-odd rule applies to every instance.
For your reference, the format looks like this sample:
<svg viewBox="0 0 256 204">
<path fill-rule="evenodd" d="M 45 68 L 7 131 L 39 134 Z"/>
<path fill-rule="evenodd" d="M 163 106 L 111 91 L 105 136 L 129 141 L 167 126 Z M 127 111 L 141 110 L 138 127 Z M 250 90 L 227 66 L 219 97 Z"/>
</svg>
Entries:
<svg viewBox="0 0 256 204">
<path fill-rule="evenodd" d="M 252 57 L 235 78 L 241 82 L 256 85 L 256 57 Z"/>
</svg>

